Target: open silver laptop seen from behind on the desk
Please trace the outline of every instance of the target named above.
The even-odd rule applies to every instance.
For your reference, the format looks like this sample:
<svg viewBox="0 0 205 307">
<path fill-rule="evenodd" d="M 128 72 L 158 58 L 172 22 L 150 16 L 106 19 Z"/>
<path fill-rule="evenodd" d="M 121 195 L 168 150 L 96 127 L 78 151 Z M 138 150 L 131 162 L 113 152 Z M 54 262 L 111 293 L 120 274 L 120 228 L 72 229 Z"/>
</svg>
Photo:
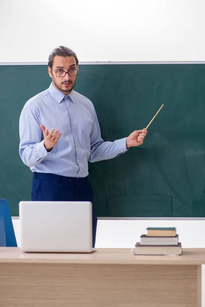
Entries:
<svg viewBox="0 0 205 307">
<path fill-rule="evenodd" d="M 93 252 L 92 203 L 20 202 L 19 247 L 24 252 Z"/>
</svg>

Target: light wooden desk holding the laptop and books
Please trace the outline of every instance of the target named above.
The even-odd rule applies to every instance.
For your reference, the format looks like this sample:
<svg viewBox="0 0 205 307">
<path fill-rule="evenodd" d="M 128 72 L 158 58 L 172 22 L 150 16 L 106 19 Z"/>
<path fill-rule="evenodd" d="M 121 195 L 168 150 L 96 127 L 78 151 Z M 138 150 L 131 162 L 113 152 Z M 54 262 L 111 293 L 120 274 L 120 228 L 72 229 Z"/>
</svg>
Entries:
<svg viewBox="0 0 205 307">
<path fill-rule="evenodd" d="M 181 256 L 27 254 L 0 248 L 1 307 L 199 307 L 205 249 Z"/>
</svg>

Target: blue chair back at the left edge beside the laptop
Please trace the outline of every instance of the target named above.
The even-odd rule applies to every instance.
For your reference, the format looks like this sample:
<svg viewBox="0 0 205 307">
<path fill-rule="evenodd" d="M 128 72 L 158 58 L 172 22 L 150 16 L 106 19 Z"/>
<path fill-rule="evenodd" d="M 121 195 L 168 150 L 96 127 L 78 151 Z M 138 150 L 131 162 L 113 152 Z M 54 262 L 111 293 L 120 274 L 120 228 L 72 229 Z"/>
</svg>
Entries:
<svg viewBox="0 0 205 307">
<path fill-rule="evenodd" d="M 7 200 L 0 199 L 0 246 L 17 247 Z"/>
</svg>

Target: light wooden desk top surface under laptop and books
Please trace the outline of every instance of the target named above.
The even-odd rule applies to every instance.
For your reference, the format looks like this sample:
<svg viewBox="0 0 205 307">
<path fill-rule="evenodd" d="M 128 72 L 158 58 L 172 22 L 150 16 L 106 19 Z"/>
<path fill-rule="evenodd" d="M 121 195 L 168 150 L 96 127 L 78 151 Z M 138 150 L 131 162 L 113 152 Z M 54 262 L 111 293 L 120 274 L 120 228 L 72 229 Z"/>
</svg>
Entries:
<svg viewBox="0 0 205 307">
<path fill-rule="evenodd" d="M 135 256 L 131 249 L 96 249 L 91 254 L 24 253 L 15 247 L 0 247 L 1 263 L 202 265 L 205 249 L 183 249 L 180 256 Z"/>
</svg>

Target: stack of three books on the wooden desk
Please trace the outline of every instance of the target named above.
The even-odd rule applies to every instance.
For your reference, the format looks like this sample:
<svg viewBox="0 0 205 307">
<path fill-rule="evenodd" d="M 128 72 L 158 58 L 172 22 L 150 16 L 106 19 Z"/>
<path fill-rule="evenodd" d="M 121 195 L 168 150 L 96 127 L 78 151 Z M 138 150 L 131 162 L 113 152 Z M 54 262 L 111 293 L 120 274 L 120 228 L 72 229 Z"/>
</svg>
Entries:
<svg viewBox="0 0 205 307">
<path fill-rule="evenodd" d="M 135 245 L 135 255 L 180 255 L 182 252 L 175 227 L 149 227 Z"/>
</svg>

